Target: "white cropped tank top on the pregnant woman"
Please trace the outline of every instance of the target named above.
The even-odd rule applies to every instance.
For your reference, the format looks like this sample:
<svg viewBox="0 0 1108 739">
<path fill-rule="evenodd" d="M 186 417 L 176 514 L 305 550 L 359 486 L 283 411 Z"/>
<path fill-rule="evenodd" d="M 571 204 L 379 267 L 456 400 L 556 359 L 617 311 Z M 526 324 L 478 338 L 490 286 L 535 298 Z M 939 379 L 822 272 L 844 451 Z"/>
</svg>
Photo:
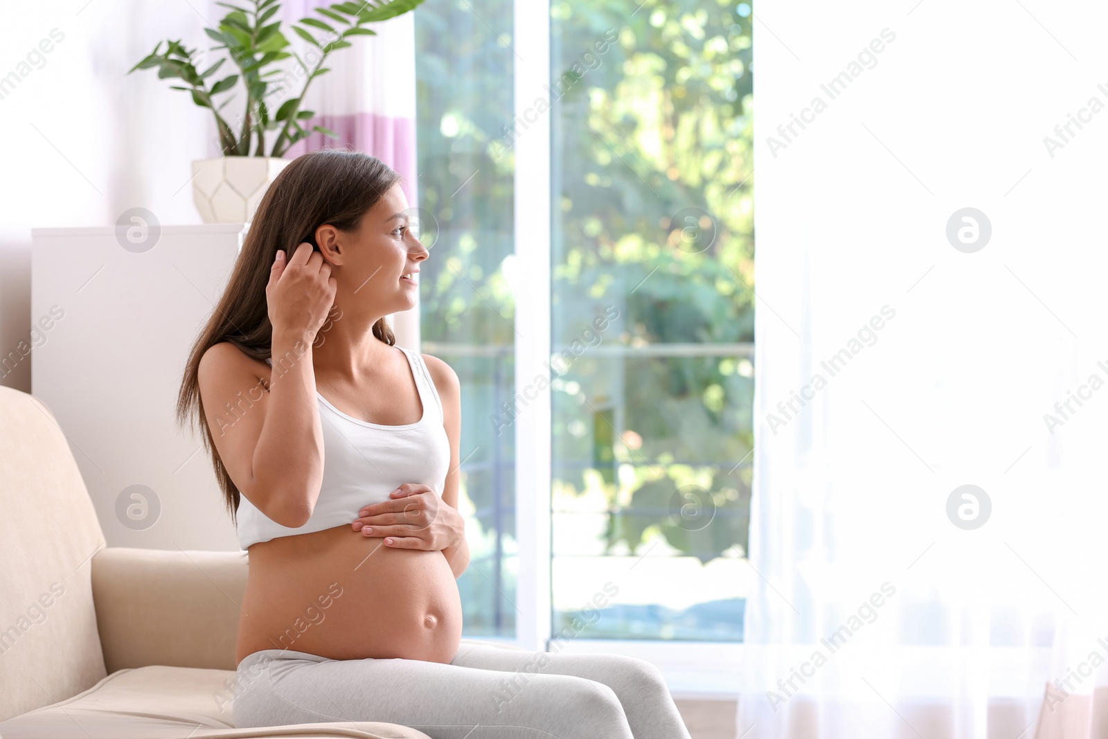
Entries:
<svg viewBox="0 0 1108 739">
<path fill-rule="evenodd" d="M 347 415 L 317 391 L 324 432 L 324 480 L 311 517 L 302 526 L 289 528 L 275 523 L 240 495 L 236 517 L 243 550 L 277 536 L 349 526 L 361 509 L 389 500 L 389 493 L 406 482 L 427 485 L 442 496 L 450 466 L 442 401 L 419 352 L 400 346 L 397 349 L 408 358 L 423 417 L 404 425 L 369 423 Z"/>
</svg>

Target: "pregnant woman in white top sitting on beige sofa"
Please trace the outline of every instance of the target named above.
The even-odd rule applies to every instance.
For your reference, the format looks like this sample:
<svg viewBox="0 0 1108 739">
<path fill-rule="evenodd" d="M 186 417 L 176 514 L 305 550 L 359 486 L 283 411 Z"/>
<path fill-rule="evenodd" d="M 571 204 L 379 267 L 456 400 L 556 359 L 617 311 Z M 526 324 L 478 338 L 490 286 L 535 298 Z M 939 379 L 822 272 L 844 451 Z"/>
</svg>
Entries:
<svg viewBox="0 0 1108 739">
<path fill-rule="evenodd" d="M 235 722 L 688 739 L 650 663 L 461 638 L 459 381 L 386 320 L 430 256 L 399 182 L 358 152 L 294 160 L 188 359 L 178 418 L 249 552 Z"/>
</svg>

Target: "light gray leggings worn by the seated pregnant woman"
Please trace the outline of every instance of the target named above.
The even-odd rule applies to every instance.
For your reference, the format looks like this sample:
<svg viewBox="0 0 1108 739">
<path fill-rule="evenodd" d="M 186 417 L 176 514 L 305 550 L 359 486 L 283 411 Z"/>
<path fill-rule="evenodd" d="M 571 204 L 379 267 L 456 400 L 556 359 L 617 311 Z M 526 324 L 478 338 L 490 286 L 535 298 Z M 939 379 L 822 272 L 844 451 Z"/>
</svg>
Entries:
<svg viewBox="0 0 1108 739">
<path fill-rule="evenodd" d="M 264 649 L 238 665 L 238 728 L 399 723 L 432 739 L 689 739 L 658 668 L 462 639 L 449 665 Z"/>
</svg>

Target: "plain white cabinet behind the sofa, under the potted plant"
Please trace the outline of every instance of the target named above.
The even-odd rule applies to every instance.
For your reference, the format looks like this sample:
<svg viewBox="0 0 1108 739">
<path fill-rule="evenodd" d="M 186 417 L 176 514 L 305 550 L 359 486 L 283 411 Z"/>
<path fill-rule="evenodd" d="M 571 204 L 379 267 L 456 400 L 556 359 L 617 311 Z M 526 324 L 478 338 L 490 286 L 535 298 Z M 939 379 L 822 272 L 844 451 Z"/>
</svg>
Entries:
<svg viewBox="0 0 1108 739">
<path fill-rule="evenodd" d="M 238 548 L 198 432 L 174 410 L 244 234 L 162 226 L 143 250 L 112 227 L 31 232 L 31 392 L 69 439 L 109 546 Z"/>
</svg>

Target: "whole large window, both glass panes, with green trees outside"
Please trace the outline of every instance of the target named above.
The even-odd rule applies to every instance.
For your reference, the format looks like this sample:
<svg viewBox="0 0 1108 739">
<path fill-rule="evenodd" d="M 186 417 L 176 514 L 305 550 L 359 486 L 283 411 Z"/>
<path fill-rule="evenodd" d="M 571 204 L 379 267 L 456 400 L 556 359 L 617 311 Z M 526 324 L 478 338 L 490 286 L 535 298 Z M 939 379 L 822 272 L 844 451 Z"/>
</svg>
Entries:
<svg viewBox="0 0 1108 739">
<path fill-rule="evenodd" d="M 424 351 L 463 384 L 465 633 L 515 632 L 520 330 L 550 333 L 552 630 L 739 640 L 753 341 L 750 6 L 554 0 L 551 325 L 517 327 L 511 0 L 416 13 Z M 530 60 L 529 60 L 530 61 Z M 540 106 L 541 107 L 541 106 Z M 542 113 L 540 110 L 538 113 Z M 546 176 L 546 173 L 543 173 Z M 506 406 L 505 406 L 506 403 Z M 527 423 L 521 414 L 519 423 Z M 603 607 L 597 609 L 596 596 Z"/>
</svg>

